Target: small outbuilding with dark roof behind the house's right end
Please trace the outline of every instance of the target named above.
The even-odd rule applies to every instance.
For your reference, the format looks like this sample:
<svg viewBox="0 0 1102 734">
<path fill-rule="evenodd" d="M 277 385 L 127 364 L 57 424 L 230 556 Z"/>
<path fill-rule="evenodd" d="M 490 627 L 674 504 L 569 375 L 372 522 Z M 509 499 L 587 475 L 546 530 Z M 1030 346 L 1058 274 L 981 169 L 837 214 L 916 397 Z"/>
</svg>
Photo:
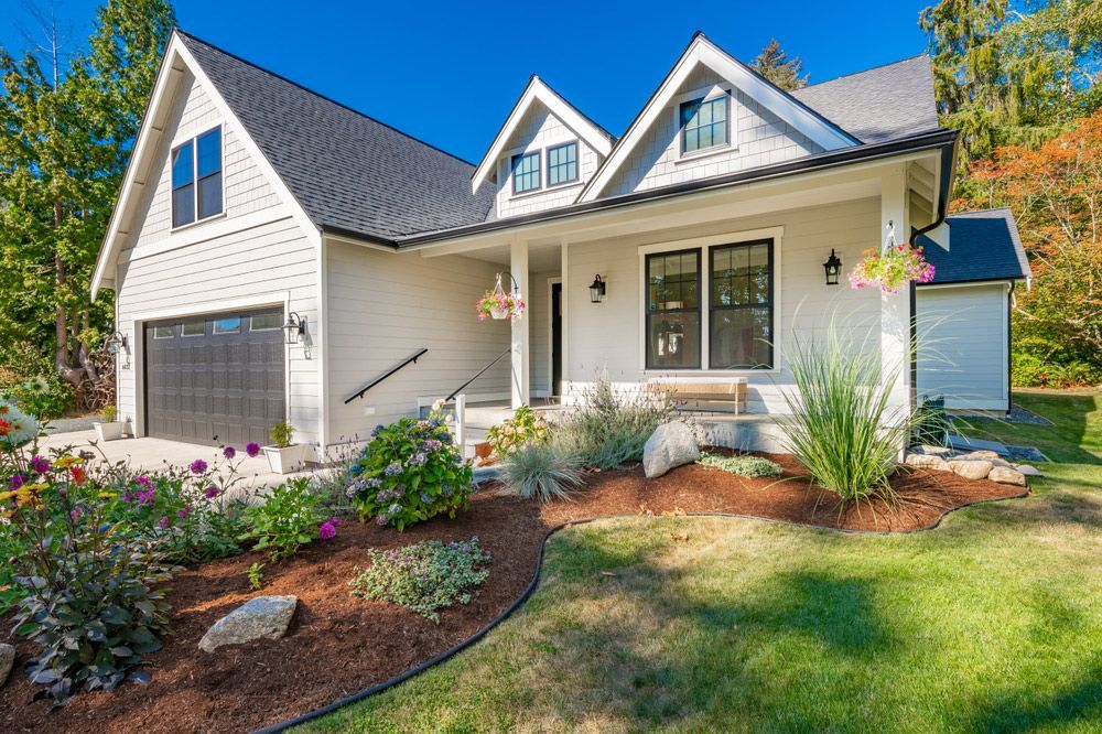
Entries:
<svg viewBox="0 0 1102 734">
<path fill-rule="evenodd" d="M 918 242 L 936 269 L 916 295 L 919 396 L 1008 411 L 1011 306 L 1031 276 L 1018 227 L 1009 209 L 987 209 L 951 215 L 938 234 Z"/>
</svg>

